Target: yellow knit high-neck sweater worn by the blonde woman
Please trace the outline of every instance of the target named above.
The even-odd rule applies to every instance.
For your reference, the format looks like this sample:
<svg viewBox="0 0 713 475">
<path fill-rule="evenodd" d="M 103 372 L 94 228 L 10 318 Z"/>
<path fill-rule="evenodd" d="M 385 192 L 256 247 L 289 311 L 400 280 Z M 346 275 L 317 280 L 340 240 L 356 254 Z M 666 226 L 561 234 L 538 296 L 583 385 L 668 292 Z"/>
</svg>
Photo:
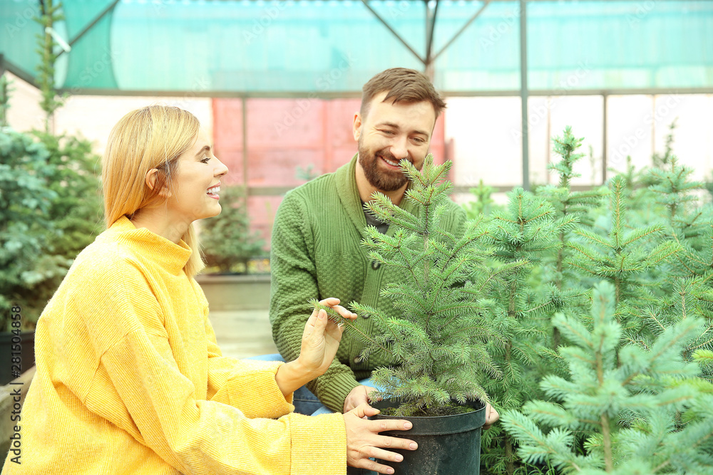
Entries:
<svg viewBox="0 0 713 475">
<path fill-rule="evenodd" d="M 346 473 L 341 414 L 290 414 L 278 363 L 221 355 L 190 252 L 122 218 L 77 256 L 3 474 Z"/>
</svg>

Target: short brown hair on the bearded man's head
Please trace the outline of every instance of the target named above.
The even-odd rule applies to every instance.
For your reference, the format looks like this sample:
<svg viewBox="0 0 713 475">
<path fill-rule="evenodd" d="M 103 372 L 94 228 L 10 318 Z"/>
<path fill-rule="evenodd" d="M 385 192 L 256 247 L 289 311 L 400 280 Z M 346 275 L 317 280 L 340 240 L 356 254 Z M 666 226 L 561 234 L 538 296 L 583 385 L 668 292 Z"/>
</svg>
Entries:
<svg viewBox="0 0 713 475">
<path fill-rule="evenodd" d="M 436 92 L 436 88 L 424 73 L 419 73 L 415 69 L 391 68 L 375 75 L 361 88 L 361 108 L 359 113 L 361 119 L 366 118 L 369 113 L 369 105 L 374 96 L 389 91 L 384 98 L 384 102 L 391 100 L 391 103 L 420 103 L 427 100 L 434 106 L 436 118 L 441 115 L 446 103 L 441 95 Z"/>
</svg>

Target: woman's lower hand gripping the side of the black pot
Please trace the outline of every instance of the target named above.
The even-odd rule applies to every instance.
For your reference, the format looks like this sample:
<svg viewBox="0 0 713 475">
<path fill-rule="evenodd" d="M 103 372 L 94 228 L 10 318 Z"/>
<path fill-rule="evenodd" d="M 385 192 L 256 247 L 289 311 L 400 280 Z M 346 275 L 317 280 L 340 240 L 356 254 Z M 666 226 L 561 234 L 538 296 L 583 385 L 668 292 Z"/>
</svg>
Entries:
<svg viewBox="0 0 713 475">
<path fill-rule="evenodd" d="M 399 462 L 404 460 L 401 454 L 384 450 L 382 447 L 416 450 L 419 446 L 409 439 L 379 434 L 386 430 L 409 430 L 413 427 L 411 422 L 401 419 L 366 419 L 366 416 L 376 414 L 379 414 L 379 409 L 374 409 L 369 404 L 360 404 L 356 409 L 343 414 L 344 426 L 347 428 L 347 465 L 378 471 L 379 474 L 393 474 L 394 469 L 390 466 L 381 465 L 369 457 Z"/>
</svg>

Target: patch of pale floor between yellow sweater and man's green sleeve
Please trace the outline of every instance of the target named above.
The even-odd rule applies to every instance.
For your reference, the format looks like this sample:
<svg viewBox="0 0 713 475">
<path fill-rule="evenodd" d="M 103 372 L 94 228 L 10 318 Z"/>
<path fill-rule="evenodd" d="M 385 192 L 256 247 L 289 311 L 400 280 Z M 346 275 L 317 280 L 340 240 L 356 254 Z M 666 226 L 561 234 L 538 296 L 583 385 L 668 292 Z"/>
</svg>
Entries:
<svg viewBox="0 0 713 475">
<path fill-rule="evenodd" d="M 208 318 L 223 355 L 245 358 L 278 353 L 267 309 L 211 311 Z"/>
</svg>

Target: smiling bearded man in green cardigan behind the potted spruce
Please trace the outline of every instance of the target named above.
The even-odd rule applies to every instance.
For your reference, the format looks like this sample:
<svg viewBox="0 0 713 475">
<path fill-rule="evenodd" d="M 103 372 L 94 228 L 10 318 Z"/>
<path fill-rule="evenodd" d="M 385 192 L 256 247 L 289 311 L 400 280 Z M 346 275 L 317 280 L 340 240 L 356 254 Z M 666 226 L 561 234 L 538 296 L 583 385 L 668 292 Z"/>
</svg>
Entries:
<svg viewBox="0 0 713 475">
<path fill-rule="evenodd" d="M 391 235 L 394 229 L 364 212 L 371 194 L 381 192 L 391 202 L 414 212 L 404 200 L 409 180 L 399 168 L 406 159 L 421 169 L 431 135 L 446 103 L 425 75 L 405 68 L 379 73 L 364 85 L 361 108 L 354 114 L 358 153 L 351 162 L 287 193 L 277 210 L 272 232 L 270 322 L 279 352 L 290 361 L 299 355 L 304 311 L 310 298 L 334 296 L 399 315 L 381 288 L 399 278 L 397 271 L 371 263 L 361 239 L 366 224 Z M 466 215 L 451 202 L 441 224 L 457 233 Z M 369 319 L 358 325 L 373 331 Z M 373 387 L 359 380 L 386 364 L 378 355 L 359 360 L 362 345 L 344 334 L 337 357 L 327 372 L 307 384 L 319 401 L 335 412 L 347 412 L 368 402 Z M 297 395 L 295 395 L 297 397 Z M 494 409 L 486 424 L 498 419 Z"/>
</svg>

